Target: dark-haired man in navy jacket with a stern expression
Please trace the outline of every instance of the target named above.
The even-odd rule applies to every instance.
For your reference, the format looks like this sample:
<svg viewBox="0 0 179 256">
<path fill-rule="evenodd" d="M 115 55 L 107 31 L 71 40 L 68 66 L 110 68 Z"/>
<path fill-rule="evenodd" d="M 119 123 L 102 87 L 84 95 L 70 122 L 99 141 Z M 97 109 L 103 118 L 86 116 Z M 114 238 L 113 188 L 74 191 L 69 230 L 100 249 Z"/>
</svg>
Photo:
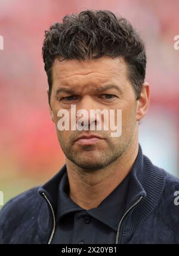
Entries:
<svg viewBox="0 0 179 256">
<path fill-rule="evenodd" d="M 154 166 L 138 144 L 150 100 L 140 36 L 110 11 L 87 10 L 45 31 L 42 53 L 66 164 L 4 206 L 1 243 L 179 243 L 179 180 Z M 82 120 L 75 115 L 81 129 L 74 129 L 72 107 L 75 114 L 84 110 Z M 90 129 L 91 109 L 121 109 L 120 136 L 111 136 L 111 126 Z M 104 115 L 100 121 L 107 125 Z"/>
</svg>

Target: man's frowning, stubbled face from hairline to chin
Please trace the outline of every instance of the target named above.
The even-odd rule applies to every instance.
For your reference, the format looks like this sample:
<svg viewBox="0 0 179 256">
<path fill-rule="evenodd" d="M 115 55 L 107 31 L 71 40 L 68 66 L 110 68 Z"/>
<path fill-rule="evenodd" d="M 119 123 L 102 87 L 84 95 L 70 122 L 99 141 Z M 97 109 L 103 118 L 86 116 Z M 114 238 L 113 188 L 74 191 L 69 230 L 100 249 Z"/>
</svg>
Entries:
<svg viewBox="0 0 179 256">
<path fill-rule="evenodd" d="M 106 86 L 116 86 L 105 89 Z M 59 89 L 68 89 L 64 92 Z M 66 91 L 66 90 L 65 90 Z M 122 109 L 122 134 L 112 137 L 111 130 L 63 130 L 57 128 L 60 109 L 70 113 L 71 105 L 76 111 L 86 109 Z M 117 111 L 115 111 L 117 112 Z M 53 89 L 51 92 L 51 115 L 57 129 L 58 141 L 70 161 L 86 170 L 96 170 L 118 159 L 128 148 L 137 132 L 137 100 L 129 83 L 124 59 L 101 57 L 96 60 L 55 59 L 53 65 Z M 115 121 L 116 121 L 115 116 Z M 98 135 L 92 143 L 76 141 L 82 135 Z"/>
</svg>

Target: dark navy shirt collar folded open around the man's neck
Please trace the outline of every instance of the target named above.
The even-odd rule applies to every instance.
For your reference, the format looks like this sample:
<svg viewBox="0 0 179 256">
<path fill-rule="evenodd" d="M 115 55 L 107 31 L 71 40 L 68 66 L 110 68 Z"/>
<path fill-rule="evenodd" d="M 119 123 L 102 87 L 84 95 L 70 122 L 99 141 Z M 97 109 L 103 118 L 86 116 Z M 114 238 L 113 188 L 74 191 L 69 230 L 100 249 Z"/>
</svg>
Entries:
<svg viewBox="0 0 179 256">
<path fill-rule="evenodd" d="M 69 197 L 69 180 L 67 172 L 61 178 L 58 188 L 57 220 L 62 221 L 63 217 L 78 211 L 85 211 L 86 214 L 97 219 L 101 223 L 108 225 L 114 231 L 117 230 L 118 223 L 125 210 L 126 197 L 128 193 L 130 173 L 125 179 L 104 199 L 97 208 L 86 211 L 76 205 Z"/>
</svg>

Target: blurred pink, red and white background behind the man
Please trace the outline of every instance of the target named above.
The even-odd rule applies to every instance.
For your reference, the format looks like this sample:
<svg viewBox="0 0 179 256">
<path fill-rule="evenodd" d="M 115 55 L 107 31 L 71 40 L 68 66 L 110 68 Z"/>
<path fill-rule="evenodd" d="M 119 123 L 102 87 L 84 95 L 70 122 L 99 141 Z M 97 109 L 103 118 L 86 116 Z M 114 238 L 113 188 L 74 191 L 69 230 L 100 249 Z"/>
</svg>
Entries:
<svg viewBox="0 0 179 256">
<path fill-rule="evenodd" d="M 0 191 L 4 203 L 44 183 L 64 164 L 48 111 L 41 48 L 50 25 L 86 9 L 106 9 L 125 17 L 146 42 L 146 81 L 152 99 L 140 124 L 140 144 L 154 164 L 179 176 L 179 50 L 174 49 L 174 36 L 179 35 L 178 0 L 0 0 L 4 38 Z"/>
</svg>

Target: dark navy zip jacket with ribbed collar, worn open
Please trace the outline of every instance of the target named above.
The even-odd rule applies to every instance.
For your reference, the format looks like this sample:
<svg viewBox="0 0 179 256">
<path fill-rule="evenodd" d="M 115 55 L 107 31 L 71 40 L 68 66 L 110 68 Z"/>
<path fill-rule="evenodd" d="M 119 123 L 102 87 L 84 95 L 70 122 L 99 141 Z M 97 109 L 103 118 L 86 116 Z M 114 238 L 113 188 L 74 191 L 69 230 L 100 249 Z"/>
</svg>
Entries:
<svg viewBox="0 0 179 256">
<path fill-rule="evenodd" d="M 51 243 L 58 185 L 66 164 L 42 187 L 11 199 L 0 212 L 0 243 Z M 179 243 L 179 179 L 152 164 L 139 147 L 126 210 L 114 243 Z M 176 201 L 176 200 L 175 200 Z"/>
</svg>

